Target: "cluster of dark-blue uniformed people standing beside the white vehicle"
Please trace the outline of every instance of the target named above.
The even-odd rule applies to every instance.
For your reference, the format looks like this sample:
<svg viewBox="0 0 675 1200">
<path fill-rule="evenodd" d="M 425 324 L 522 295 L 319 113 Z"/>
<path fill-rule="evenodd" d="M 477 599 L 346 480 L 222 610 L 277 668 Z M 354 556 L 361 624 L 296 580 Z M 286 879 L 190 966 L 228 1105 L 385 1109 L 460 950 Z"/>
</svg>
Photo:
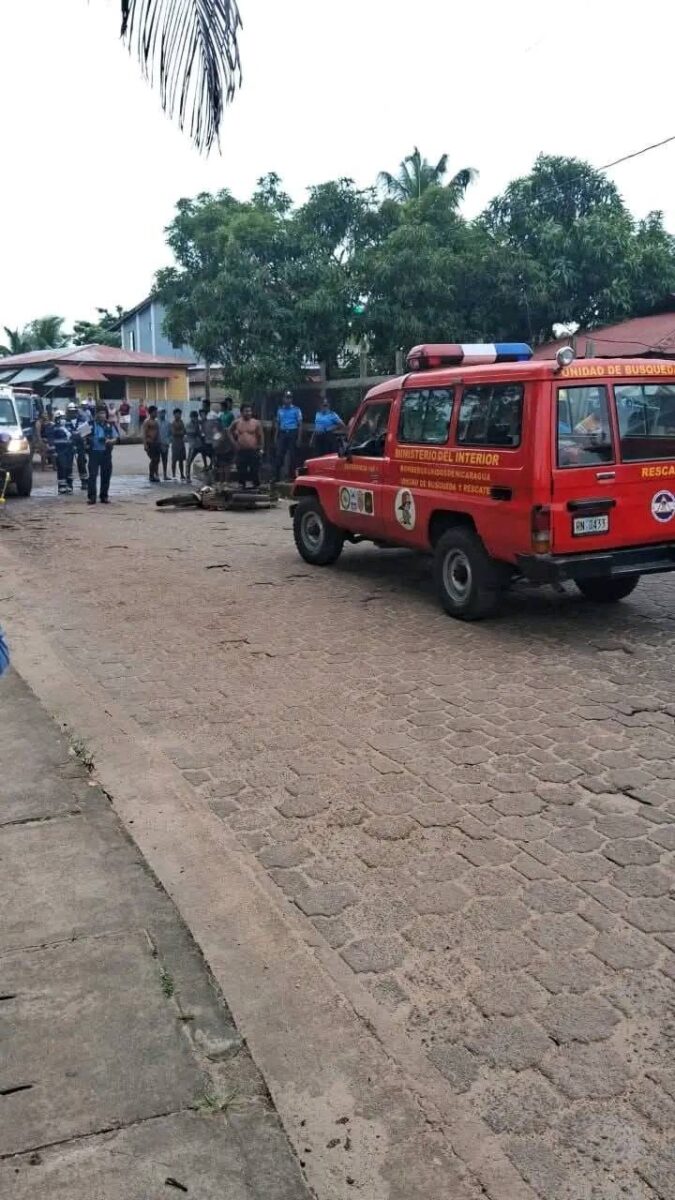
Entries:
<svg viewBox="0 0 675 1200">
<path fill-rule="evenodd" d="M 88 504 L 108 504 L 113 474 L 113 446 L 120 438 L 115 420 L 107 406 L 98 401 L 79 407 L 70 401 L 65 413 L 60 409 L 40 419 L 37 436 L 54 456 L 59 496 L 72 496 L 73 468 L 77 463 L 79 486 L 86 492 Z"/>
</svg>

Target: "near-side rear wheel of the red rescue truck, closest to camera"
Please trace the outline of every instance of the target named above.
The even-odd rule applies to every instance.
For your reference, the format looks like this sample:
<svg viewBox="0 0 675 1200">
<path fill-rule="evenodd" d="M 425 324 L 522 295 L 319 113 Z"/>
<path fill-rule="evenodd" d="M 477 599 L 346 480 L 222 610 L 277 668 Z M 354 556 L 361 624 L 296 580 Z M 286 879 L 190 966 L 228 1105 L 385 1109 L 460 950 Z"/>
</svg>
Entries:
<svg viewBox="0 0 675 1200">
<path fill-rule="evenodd" d="M 443 608 L 459 620 L 491 617 L 503 590 L 480 538 L 464 526 L 448 529 L 436 542 L 434 582 Z"/>
</svg>

